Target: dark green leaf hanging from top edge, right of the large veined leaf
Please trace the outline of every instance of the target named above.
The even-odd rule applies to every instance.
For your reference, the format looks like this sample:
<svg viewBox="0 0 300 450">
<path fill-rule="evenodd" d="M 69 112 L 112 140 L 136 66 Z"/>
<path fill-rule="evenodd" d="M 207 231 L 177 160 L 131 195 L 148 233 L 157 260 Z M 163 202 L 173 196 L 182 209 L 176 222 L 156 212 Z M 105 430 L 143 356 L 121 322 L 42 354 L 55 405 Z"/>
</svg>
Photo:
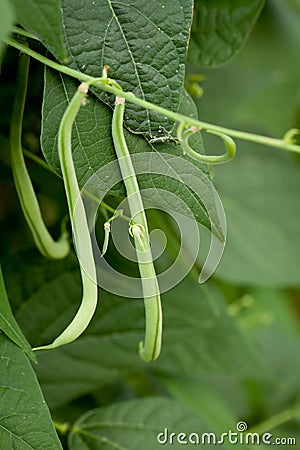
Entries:
<svg viewBox="0 0 300 450">
<path fill-rule="evenodd" d="M 264 0 L 196 0 L 189 59 L 201 67 L 225 64 L 241 50 Z"/>
</svg>

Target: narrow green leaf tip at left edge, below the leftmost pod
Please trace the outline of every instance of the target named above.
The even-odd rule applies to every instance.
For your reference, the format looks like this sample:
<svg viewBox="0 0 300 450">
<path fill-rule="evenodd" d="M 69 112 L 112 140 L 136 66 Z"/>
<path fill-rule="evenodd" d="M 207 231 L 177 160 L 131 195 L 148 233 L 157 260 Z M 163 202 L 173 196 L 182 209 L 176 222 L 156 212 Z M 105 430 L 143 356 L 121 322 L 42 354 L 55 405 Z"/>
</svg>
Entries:
<svg viewBox="0 0 300 450">
<path fill-rule="evenodd" d="M 3 331 L 15 344 L 17 344 L 27 356 L 36 361 L 35 355 L 29 343 L 16 322 L 7 298 L 3 275 L 0 267 L 0 330 Z"/>
</svg>

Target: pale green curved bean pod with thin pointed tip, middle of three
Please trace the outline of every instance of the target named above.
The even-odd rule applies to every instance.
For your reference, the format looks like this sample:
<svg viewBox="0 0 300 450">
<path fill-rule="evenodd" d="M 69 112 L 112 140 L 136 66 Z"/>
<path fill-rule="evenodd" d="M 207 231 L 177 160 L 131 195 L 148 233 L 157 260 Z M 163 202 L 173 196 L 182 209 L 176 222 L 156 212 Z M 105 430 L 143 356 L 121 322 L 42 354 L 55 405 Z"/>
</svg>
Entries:
<svg viewBox="0 0 300 450">
<path fill-rule="evenodd" d="M 84 205 L 80 196 L 80 190 L 77 182 L 75 167 L 72 158 L 71 137 L 72 127 L 80 109 L 85 95 L 88 91 L 88 85 L 82 83 L 73 96 L 65 114 L 61 120 L 58 133 L 58 152 L 63 173 L 65 192 L 69 206 L 73 236 L 76 242 L 77 254 L 81 267 L 82 280 L 82 300 L 81 305 L 67 328 L 60 334 L 52 344 L 37 347 L 34 350 L 44 350 L 59 347 L 61 345 L 73 342 L 80 336 L 90 323 L 98 300 L 98 288 L 96 280 L 96 267 L 93 256 L 92 243 L 89 227 L 87 223 Z M 76 206 L 76 220 L 74 220 L 74 211 Z"/>
</svg>

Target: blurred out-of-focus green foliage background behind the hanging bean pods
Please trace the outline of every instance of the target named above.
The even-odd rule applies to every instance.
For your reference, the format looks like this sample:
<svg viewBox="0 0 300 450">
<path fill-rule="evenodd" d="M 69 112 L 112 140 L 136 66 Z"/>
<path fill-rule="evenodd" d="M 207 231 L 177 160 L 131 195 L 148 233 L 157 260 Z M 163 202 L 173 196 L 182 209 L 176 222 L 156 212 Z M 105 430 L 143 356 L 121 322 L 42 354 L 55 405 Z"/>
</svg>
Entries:
<svg viewBox="0 0 300 450">
<path fill-rule="evenodd" d="M 199 80 L 201 96 L 194 100 L 200 120 L 274 137 L 300 128 L 299 55 L 300 3 L 295 0 L 268 0 L 249 40 L 226 65 L 201 66 L 191 46 L 186 83 L 190 89 Z M 16 318 L 35 345 L 50 341 L 68 323 L 81 286 L 73 256 L 47 262 L 32 249 L 13 186 L 7 136 L 17 58 L 8 49 L 1 73 L 0 247 Z M 39 156 L 42 90 L 43 69 L 32 61 L 23 144 Z M 207 153 L 219 151 L 219 140 L 203 138 Z M 142 302 L 101 292 L 84 336 L 42 353 L 35 367 L 58 422 L 72 422 L 119 400 L 160 395 L 172 397 L 217 433 L 245 420 L 253 430 L 300 442 L 300 158 L 237 144 L 236 158 L 212 175 L 228 226 L 213 278 L 204 286 L 197 283 L 209 238 L 200 227 L 203 247 L 196 266 L 163 295 L 163 353 L 150 366 L 136 352 L 143 334 Z M 66 213 L 61 180 L 29 159 L 27 164 L 45 221 L 57 236 Z M 166 218 L 153 214 L 149 220 L 153 228 L 163 220 L 169 237 L 163 267 L 178 247 L 177 236 Z M 187 260 L 193 245 L 187 244 Z M 113 249 L 108 258 L 122 267 Z"/>
</svg>

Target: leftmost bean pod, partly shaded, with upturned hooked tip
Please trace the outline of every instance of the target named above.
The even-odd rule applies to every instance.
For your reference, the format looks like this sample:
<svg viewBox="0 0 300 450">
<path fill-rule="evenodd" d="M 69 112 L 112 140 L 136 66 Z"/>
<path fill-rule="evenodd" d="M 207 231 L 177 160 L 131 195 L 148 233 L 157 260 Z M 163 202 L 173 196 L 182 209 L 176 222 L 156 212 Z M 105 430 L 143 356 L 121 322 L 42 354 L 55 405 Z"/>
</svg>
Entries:
<svg viewBox="0 0 300 450">
<path fill-rule="evenodd" d="M 49 234 L 40 207 L 27 172 L 22 151 L 22 122 L 26 100 L 29 72 L 29 56 L 21 55 L 18 73 L 17 90 L 13 105 L 10 125 L 11 166 L 16 189 L 26 221 L 31 229 L 34 242 L 46 258 L 65 258 L 70 251 L 69 236 L 63 230 L 61 237 L 55 242 Z"/>
</svg>

